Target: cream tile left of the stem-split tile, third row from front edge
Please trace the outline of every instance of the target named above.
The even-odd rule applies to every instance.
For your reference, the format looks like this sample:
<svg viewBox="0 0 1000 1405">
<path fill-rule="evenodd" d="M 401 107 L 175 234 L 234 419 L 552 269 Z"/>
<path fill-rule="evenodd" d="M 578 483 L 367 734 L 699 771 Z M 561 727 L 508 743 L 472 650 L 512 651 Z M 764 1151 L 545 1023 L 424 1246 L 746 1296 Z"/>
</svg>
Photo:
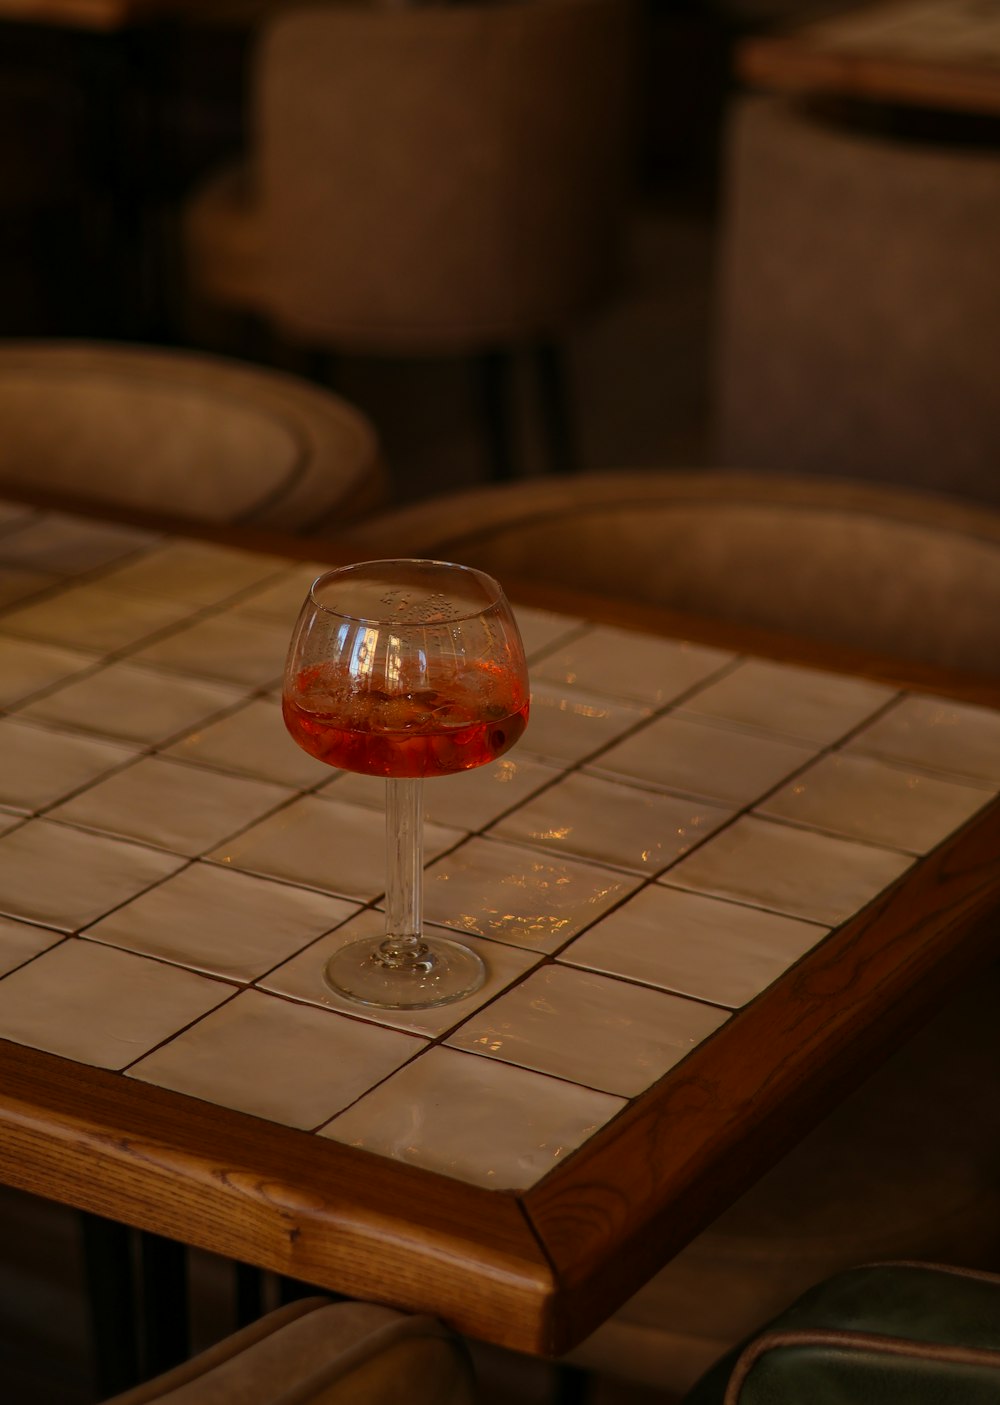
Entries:
<svg viewBox="0 0 1000 1405">
<path fill-rule="evenodd" d="M 192 858 L 291 794 L 268 781 L 147 756 L 66 801 L 52 816 Z"/>
</svg>

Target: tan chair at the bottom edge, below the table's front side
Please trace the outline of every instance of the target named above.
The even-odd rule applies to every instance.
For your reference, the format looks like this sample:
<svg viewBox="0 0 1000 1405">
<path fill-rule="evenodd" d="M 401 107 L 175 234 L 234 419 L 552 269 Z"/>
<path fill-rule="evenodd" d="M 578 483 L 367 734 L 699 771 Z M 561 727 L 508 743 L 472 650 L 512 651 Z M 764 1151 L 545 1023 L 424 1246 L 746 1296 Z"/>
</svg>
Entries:
<svg viewBox="0 0 1000 1405">
<path fill-rule="evenodd" d="M 107 1405 L 472 1405 L 462 1342 L 434 1318 L 301 1298 Z"/>
</svg>

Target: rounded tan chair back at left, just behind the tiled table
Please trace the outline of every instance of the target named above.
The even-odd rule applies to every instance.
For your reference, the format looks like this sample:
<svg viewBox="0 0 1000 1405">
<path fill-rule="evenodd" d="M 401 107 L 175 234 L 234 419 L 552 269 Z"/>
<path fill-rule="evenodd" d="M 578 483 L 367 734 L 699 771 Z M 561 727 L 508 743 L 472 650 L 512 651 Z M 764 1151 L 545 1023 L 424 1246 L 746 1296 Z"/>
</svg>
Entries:
<svg viewBox="0 0 1000 1405">
<path fill-rule="evenodd" d="M 0 493 L 211 523 L 343 525 L 386 475 L 367 417 L 319 386 L 190 351 L 0 344 Z"/>
</svg>

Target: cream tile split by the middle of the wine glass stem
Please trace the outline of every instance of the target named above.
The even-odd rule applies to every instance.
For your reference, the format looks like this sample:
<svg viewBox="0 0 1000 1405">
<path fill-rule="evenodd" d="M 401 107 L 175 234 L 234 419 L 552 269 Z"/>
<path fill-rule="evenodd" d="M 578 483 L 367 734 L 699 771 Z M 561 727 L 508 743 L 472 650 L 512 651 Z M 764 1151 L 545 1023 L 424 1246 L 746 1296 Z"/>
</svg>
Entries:
<svg viewBox="0 0 1000 1405">
<path fill-rule="evenodd" d="M 458 829 L 424 825 L 424 861 L 461 837 Z M 368 902 L 385 889 L 385 816 L 361 805 L 303 795 L 208 857 Z"/>
</svg>

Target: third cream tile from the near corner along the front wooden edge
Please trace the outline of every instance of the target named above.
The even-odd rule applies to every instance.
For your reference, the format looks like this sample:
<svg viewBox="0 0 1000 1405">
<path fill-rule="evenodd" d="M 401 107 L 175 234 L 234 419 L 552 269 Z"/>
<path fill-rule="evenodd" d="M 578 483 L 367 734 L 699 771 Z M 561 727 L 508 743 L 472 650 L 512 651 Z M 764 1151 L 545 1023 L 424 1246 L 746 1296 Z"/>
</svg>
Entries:
<svg viewBox="0 0 1000 1405">
<path fill-rule="evenodd" d="M 0 1038 L 121 1069 L 233 988 L 72 937 L 0 981 Z"/>
</svg>

